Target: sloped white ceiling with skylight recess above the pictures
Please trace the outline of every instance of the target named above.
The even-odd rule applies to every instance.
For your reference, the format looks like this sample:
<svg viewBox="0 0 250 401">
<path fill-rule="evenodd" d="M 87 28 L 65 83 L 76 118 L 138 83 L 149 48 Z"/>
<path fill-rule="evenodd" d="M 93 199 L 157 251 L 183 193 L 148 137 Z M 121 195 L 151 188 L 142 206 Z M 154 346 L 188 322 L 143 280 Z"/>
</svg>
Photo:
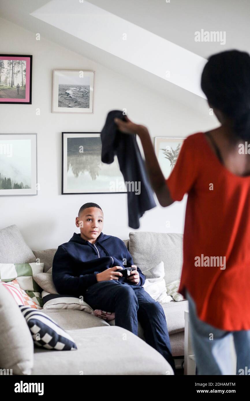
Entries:
<svg viewBox="0 0 250 401">
<path fill-rule="evenodd" d="M 2 18 L 202 113 L 206 58 L 249 51 L 249 15 L 247 0 L 0 0 Z M 225 32 L 226 43 L 196 42 L 202 29 Z"/>
</svg>

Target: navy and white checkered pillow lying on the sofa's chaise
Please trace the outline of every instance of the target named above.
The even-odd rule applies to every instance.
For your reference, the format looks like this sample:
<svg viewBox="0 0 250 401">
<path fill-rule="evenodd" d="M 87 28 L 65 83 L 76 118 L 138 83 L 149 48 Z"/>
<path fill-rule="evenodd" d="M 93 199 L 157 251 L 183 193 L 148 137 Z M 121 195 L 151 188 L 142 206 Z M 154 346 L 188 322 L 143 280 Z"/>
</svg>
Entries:
<svg viewBox="0 0 250 401">
<path fill-rule="evenodd" d="M 41 310 L 23 305 L 19 305 L 19 308 L 26 319 L 34 344 L 49 350 L 70 351 L 77 349 L 73 338 L 59 327 L 55 320 Z"/>
</svg>

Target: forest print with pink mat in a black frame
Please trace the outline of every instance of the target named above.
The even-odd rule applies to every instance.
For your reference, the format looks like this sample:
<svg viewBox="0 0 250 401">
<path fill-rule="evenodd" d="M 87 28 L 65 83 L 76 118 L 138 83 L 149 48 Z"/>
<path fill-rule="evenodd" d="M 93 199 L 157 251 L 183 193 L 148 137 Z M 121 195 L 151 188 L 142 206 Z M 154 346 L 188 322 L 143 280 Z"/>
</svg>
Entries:
<svg viewBox="0 0 250 401">
<path fill-rule="evenodd" d="M 0 55 L 0 103 L 31 104 L 32 56 Z"/>
</svg>

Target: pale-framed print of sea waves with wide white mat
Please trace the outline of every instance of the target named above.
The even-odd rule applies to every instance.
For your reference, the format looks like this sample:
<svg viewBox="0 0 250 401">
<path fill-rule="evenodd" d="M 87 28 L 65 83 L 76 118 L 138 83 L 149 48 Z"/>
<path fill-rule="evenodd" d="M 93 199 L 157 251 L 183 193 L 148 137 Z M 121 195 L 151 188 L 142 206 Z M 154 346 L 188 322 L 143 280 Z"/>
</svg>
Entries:
<svg viewBox="0 0 250 401">
<path fill-rule="evenodd" d="M 94 71 L 53 71 L 53 113 L 93 113 Z"/>
</svg>

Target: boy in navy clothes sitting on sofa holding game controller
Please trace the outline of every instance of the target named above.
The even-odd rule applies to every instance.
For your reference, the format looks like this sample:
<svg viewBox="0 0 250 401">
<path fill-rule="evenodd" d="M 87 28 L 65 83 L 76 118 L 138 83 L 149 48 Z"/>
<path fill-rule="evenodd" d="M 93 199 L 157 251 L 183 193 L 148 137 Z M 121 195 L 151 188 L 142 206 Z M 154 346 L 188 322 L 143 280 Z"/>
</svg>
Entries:
<svg viewBox="0 0 250 401">
<path fill-rule="evenodd" d="M 142 287 L 145 276 L 118 237 L 102 233 L 104 215 L 96 203 L 85 203 L 75 218 L 80 233 L 60 245 L 53 259 L 52 277 L 59 294 L 83 296 L 93 310 L 115 312 L 115 324 L 138 335 L 138 320 L 150 346 L 175 372 L 166 317 Z M 121 270 L 135 267 L 128 277 Z"/>
</svg>

